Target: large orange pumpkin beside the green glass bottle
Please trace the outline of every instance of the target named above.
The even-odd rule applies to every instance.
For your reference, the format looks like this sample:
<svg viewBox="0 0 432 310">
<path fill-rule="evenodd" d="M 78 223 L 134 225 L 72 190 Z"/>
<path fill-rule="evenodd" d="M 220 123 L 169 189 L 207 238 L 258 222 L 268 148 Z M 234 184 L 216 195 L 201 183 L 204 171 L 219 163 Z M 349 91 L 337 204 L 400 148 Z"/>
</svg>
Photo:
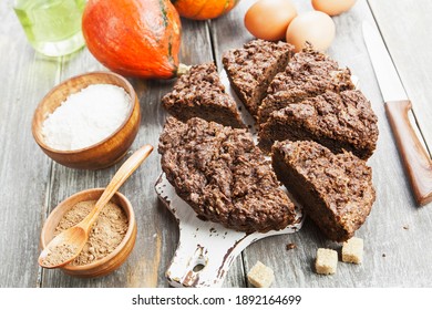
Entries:
<svg viewBox="0 0 432 310">
<path fill-rule="evenodd" d="M 96 60 L 122 75 L 144 79 L 176 75 L 181 29 L 168 0 L 90 0 L 82 18 Z"/>
</svg>

